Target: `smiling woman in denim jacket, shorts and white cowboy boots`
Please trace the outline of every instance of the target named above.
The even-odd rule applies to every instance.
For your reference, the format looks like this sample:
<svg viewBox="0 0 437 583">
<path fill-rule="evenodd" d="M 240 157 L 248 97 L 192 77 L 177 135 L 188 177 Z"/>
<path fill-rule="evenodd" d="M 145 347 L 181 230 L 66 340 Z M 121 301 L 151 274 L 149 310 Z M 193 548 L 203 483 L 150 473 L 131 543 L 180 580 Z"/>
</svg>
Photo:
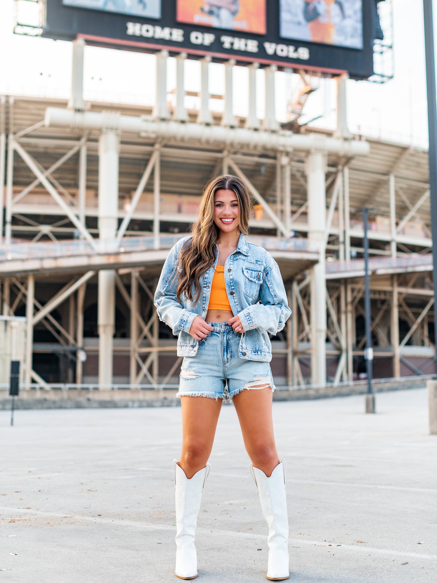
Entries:
<svg viewBox="0 0 437 583">
<path fill-rule="evenodd" d="M 288 579 L 286 468 L 273 436 L 268 333 L 284 328 L 291 310 L 276 262 L 246 241 L 251 201 L 243 182 L 230 175 L 214 178 L 199 211 L 192 235 L 170 251 L 154 299 L 160 319 L 179 336 L 178 356 L 184 356 L 178 392 L 182 453 L 173 462 L 175 574 L 198 575 L 194 540 L 207 461 L 221 403 L 232 399 L 269 525 L 267 579 Z"/>
</svg>

